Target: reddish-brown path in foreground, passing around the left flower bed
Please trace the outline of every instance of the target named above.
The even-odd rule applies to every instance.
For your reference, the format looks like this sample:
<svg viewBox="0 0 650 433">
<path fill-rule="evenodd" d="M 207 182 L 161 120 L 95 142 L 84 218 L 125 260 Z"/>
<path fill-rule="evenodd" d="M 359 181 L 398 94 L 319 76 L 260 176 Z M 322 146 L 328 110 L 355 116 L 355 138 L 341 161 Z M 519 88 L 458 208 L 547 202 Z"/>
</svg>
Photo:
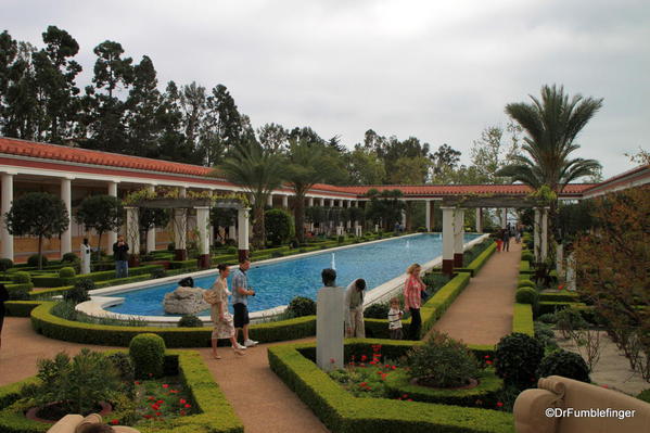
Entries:
<svg viewBox="0 0 650 433">
<path fill-rule="evenodd" d="M 71 355 L 92 346 L 47 339 L 31 329 L 29 319 L 5 317 L 0 348 L 0 385 L 36 374 L 36 361 L 65 351 Z M 209 348 L 197 349 L 219 387 L 244 423 L 246 433 L 328 432 L 309 408 L 270 370 L 268 345 L 238 356 L 219 347 L 222 359 L 213 359 Z"/>
</svg>

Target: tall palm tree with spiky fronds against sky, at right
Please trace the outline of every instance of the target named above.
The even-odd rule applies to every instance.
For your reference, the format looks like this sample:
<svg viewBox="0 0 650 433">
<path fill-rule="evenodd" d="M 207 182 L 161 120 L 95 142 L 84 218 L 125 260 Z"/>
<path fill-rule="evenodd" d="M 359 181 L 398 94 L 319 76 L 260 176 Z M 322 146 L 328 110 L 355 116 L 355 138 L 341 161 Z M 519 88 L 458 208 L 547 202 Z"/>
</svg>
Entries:
<svg viewBox="0 0 650 433">
<path fill-rule="evenodd" d="M 602 106 L 602 99 L 585 99 L 581 94 L 570 98 L 562 86 L 553 85 L 541 87 L 541 101 L 533 95 L 531 100 L 530 104 L 506 105 L 506 113 L 521 125 L 526 137 L 522 145 L 524 154 L 514 155 L 514 163 L 501 168 L 497 176 L 508 176 L 535 191 L 546 186 L 556 194 L 549 203 L 549 240 L 552 240 L 557 195 L 569 182 L 600 168 L 596 160 L 572 158 L 571 153 L 579 149 L 574 140 Z"/>
</svg>

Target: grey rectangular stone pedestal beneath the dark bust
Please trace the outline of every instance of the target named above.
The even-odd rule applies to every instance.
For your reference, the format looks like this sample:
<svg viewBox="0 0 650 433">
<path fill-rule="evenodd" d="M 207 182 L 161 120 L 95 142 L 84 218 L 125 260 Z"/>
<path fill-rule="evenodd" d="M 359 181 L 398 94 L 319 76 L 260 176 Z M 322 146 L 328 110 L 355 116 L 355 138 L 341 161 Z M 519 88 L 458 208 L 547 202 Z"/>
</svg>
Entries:
<svg viewBox="0 0 650 433">
<path fill-rule="evenodd" d="M 322 288 L 316 301 L 316 364 L 321 370 L 343 368 L 343 288 Z"/>
</svg>

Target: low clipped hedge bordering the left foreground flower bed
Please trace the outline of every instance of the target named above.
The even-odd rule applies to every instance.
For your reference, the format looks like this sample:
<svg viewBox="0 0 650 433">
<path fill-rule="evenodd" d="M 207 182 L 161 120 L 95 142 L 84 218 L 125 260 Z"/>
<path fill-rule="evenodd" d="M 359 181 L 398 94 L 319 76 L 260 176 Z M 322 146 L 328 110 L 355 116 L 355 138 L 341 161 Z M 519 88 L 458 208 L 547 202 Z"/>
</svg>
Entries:
<svg viewBox="0 0 650 433">
<path fill-rule="evenodd" d="M 191 395 L 200 413 L 176 418 L 168 422 L 139 425 L 141 433 L 243 433 L 244 426 L 228 403 L 226 395 L 214 381 L 212 373 L 195 352 L 168 352 L 167 366 L 177 366 L 170 374 L 180 380 Z M 41 433 L 51 424 L 27 420 L 23 407 L 28 403 L 18 400 L 20 390 L 27 383 L 38 383 L 36 377 L 0 387 L 0 431 L 3 433 Z"/>
</svg>

